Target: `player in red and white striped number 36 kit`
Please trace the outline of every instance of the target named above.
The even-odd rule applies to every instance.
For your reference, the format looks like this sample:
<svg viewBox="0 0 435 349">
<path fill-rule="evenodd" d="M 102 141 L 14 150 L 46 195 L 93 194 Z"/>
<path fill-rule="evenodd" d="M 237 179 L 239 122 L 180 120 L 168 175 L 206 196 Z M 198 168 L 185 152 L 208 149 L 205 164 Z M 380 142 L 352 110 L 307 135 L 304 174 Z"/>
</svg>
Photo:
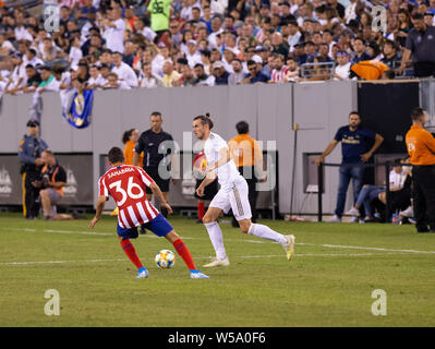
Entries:
<svg viewBox="0 0 435 349">
<path fill-rule="evenodd" d="M 161 207 L 172 213 L 171 206 L 165 200 L 160 189 L 154 180 L 140 167 L 123 165 L 124 155 L 119 147 L 109 152 L 111 168 L 98 180 L 99 196 L 96 214 L 89 224 L 94 228 L 101 217 L 105 203 L 109 195 L 113 197 L 119 208 L 118 236 L 122 250 L 137 268 L 136 278 L 148 277 L 148 270 L 142 264 L 130 239 L 138 237 L 137 227 L 147 224 L 150 231 L 158 237 L 165 237 L 188 265 L 193 279 L 208 278 L 196 269 L 192 255 L 183 240 L 173 230 L 169 221 L 146 200 L 145 189 L 150 188 L 161 203 Z"/>
</svg>

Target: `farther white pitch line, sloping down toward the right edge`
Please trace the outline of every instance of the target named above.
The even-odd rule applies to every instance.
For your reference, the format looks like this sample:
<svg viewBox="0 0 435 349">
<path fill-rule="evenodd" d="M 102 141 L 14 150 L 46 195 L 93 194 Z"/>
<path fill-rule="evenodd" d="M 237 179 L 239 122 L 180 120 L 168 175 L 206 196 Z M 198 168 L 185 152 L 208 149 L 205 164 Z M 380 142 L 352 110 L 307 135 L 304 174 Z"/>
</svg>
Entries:
<svg viewBox="0 0 435 349">
<path fill-rule="evenodd" d="M 28 232 L 37 232 L 40 230 L 37 229 L 28 229 L 28 228 L 7 228 L 0 227 L 1 230 L 17 230 L 17 231 L 28 231 Z M 104 237 L 116 237 L 116 232 L 98 232 L 98 231 L 75 231 L 75 230 L 55 230 L 55 229 L 43 229 L 44 232 L 51 233 L 65 233 L 65 234 L 88 234 L 88 236 L 104 236 Z M 147 233 L 144 236 L 140 236 L 140 238 L 157 238 L 154 233 Z M 184 240 L 209 240 L 208 238 L 190 238 L 190 237 L 181 237 Z M 250 242 L 250 243 L 265 243 L 261 240 L 242 240 L 242 239 L 225 239 L 225 241 L 230 242 Z M 306 242 L 298 242 L 297 245 L 311 245 L 311 246 L 322 246 L 329 249 L 348 249 L 348 250 L 367 250 L 367 251 L 380 251 L 380 252 L 399 252 L 399 253 L 415 253 L 415 254 L 435 254 L 435 251 L 422 251 L 422 250 L 401 250 L 401 249 L 386 249 L 386 248 L 367 248 L 367 246 L 352 246 L 352 245 L 339 245 L 339 244 L 316 244 L 316 243 L 306 243 Z"/>
</svg>

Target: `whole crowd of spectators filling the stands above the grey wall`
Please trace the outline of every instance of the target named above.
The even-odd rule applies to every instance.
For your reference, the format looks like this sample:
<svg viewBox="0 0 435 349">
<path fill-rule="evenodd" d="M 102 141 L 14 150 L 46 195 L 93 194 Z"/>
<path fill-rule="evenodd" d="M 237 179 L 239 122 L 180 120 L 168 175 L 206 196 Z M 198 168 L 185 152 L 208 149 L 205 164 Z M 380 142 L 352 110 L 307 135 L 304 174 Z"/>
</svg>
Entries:
<svg viewBox="0 0 435 349">
<path fill-rule="evenodd" d="M 43 15 L 3 5 L 0 92 L 435 75 L 435 0 L 342 3 L 62 0 L 55 32 Z M 385 32 L 372 26 L 375 5 L 386 9 Z M 362 61 L 380 73 L 352 69 Z"/>
</svg>

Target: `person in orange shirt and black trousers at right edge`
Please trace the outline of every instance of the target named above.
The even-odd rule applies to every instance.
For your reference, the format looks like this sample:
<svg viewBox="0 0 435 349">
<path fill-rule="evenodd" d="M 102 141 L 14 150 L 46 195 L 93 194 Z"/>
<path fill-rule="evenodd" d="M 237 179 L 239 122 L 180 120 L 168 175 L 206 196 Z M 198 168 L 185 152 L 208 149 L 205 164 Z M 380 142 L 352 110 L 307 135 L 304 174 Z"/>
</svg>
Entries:
<svg viewBox="0 0 435 349">
<path fill-rule="evenodd" d="M 412 164 L 415 228 L 418 232 L 435 232 L 435 139 L 423 129 L 425 110 L 413 109 L 411 119 L 406 142 Z"/>
</svg>

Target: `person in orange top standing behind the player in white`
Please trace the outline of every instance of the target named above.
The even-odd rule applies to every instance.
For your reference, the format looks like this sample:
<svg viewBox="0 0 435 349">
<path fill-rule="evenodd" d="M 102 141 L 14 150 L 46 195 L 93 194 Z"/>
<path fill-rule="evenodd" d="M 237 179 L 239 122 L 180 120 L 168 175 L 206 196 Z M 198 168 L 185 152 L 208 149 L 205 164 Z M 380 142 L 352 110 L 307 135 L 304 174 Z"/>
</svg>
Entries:
<svg viewBox="0 0 435 349">
<path fill-rule="evenodd" d="M 249 201 L 252 210 L 252 221 L 256 219 L 257 181 L 265 182 L 266 173 L 263 171 L 263 153 L 258 142 L 250 136 L 250 125 L 246 121 L 235 124 L 238 134 L 228 142 L 228 147 L 239 172 L 244 177 L 249 188 Z M 232 226 L 238 227 L 235 218 Z"/>
</svg>

